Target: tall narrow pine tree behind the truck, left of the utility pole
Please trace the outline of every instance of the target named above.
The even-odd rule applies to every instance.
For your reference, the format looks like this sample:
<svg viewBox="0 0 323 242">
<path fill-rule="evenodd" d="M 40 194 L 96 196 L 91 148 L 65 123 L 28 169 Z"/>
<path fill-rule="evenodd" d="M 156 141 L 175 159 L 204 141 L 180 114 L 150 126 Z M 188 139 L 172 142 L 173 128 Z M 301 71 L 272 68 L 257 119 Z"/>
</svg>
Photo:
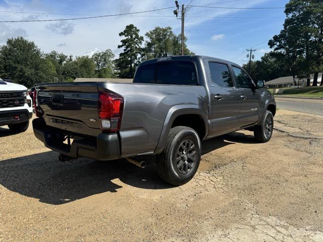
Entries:
<svg viewBox="0 0 323 242">
<path fill-rule="evenodd" d="M 120 78 L 133 78 L 136 67 L 139 64 L 142 55 L 143 37 L 139 35 L 139 29 L 133 24 L 127 25 L 125 30 L 119 33 L 121 44 L 118 48 L 122 48 L 123 52 L 116 59 L 116 69 Z"/>
</svg>

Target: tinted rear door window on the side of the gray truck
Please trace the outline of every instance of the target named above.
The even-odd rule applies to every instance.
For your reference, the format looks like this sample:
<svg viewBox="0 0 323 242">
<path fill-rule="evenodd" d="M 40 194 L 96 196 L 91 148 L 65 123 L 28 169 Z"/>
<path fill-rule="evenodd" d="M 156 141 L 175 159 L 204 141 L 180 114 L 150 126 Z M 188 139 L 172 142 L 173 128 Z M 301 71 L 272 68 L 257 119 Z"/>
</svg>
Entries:
<svg viewBox="0 0 323 242">
<path fill-rule="evenodd" d="M 211 79 L 220 87 L 233 87 L 233 81 L 229 68 L 226 64 L 209 62 Z"/>
</svg>

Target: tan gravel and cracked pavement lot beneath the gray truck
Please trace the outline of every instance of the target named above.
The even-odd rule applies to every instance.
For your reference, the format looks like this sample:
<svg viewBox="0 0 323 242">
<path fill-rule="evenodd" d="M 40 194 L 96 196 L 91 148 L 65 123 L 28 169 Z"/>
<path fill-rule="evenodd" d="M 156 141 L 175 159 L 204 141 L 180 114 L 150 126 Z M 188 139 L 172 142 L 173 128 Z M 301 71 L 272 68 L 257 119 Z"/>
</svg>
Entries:
<svg viewBox="0 0 323 242">
<path fill-rule="evenodd" d="M 203 142 L 181 187 L 153 164 L 61 163 L 0 128 L 0 241 L 323 241 L 323 116 L 279 110 L 266 144 Z"/>
</svg>

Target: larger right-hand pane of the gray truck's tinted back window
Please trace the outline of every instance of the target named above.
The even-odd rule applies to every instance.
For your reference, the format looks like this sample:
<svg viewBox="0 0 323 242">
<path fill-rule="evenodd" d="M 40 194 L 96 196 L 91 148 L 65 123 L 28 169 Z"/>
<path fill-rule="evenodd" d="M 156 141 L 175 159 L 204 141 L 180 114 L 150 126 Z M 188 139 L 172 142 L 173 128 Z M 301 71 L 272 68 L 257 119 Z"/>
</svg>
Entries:
<svg viewBox="0 0 323 242">
<path fill-rule="evenodd" d="M 161 62 L 157 64 L 157 84 L 197 85 L 192 62 Z"/>
</svg>

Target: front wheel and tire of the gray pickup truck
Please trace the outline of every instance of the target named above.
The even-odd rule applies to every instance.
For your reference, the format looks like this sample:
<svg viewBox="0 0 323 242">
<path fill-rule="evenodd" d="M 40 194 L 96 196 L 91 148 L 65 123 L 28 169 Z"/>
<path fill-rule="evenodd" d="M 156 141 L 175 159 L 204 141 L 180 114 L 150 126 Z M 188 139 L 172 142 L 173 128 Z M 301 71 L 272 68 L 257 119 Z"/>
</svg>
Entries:
<svg viewBox="0 0 323 242">
<path fill-rule="evenodd" d="M 266 110 L 261 124 L 255 126 L 253 134 L 257 141 L 260 143 L 268 142 L 273 135 L 274 117 L 271 111 Z"/>
</svg>

